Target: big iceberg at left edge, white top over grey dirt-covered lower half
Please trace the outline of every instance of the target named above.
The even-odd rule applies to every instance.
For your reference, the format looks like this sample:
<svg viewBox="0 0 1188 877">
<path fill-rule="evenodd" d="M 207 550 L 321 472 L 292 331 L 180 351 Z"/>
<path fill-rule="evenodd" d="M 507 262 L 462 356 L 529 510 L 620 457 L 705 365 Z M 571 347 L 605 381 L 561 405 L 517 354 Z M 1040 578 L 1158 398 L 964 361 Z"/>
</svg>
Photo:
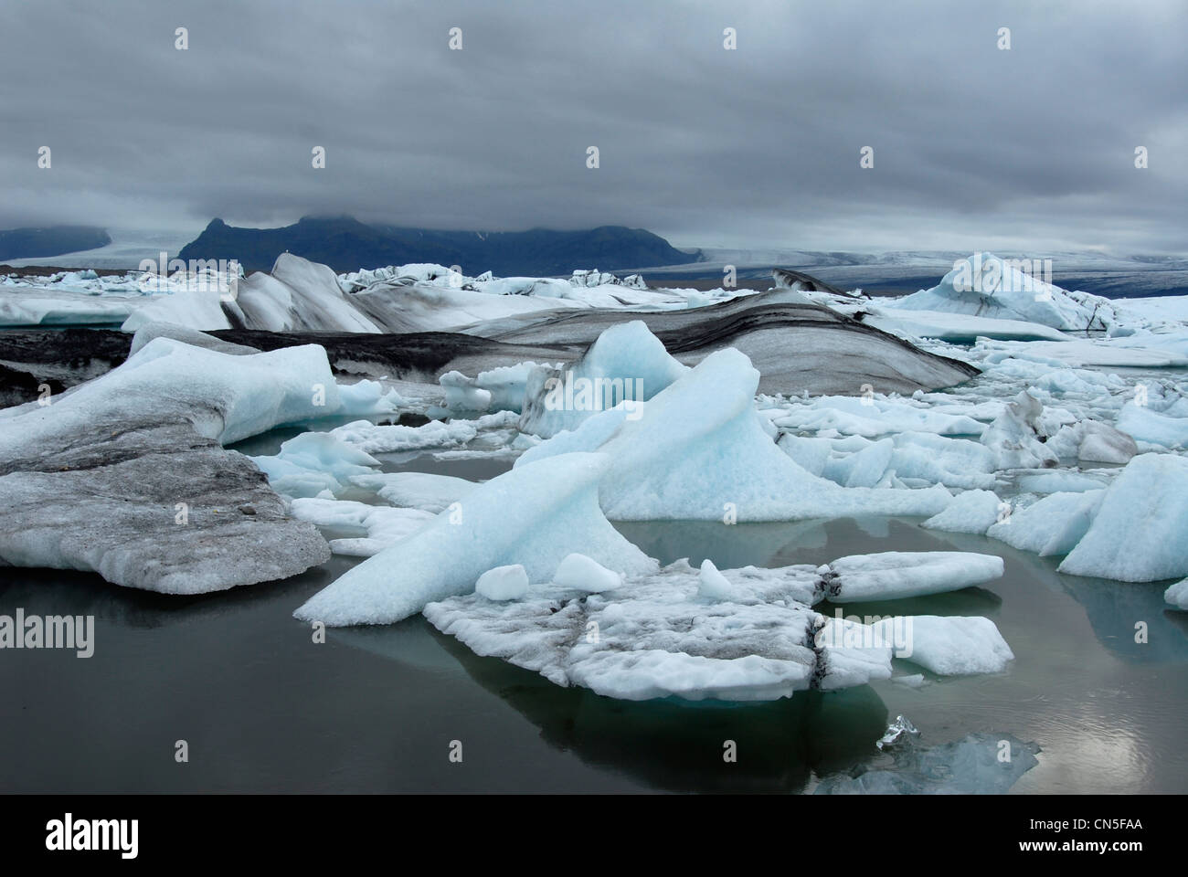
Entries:
<svg viewBox="0 0 1188 877">
<path fill-rule="evenodd" d="M 50 404 L 0 412 L 0 559 L 195 594 L 329 560 L 225 450 L 339 404 L 320 347 L 230 355 L 165 337 Z"/>
</svg>

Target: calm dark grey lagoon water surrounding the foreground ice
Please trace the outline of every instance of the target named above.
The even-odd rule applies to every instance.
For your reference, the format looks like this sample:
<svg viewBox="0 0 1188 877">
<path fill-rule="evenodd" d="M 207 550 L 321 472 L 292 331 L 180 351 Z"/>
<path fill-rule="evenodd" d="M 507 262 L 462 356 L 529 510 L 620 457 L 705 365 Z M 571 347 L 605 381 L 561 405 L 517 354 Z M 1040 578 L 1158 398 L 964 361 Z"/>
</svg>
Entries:
<svg viewBox="0 0 1188 877">
<path fill-rule="evenodd" d="M 248 453 L 270 453 L 252 449 Z M 491 478 L 508 461 L 386 460 Z M 201 598 L 97 575 L 6 569 L 0 613 L 94 614 L 95 654 L 0 651 L 4 791 L 811 791 L 890 758 L 874 740 L 905 714 L 921 743 L 972 731 L 1040 744 L 1013 793 L 1188 791 L 1188 614 L 1161 585 L 1055 572 L 1055 561 L 914 519 L 621 524 L 652 556 L 720 567 L 821 563 L 866 551 L 1001 555 L 984 588 L 846 614 L 982 614 L 1016 661 L 996 676 L 803 693 L 752 706 L 627 704 L 480 658 L 422 618 L 329 631 L 291 612 L 349 567 Z M 827 613 L 833 607 L 820 607 Z M 1144 622 L 1149 642 L 1135 642 Z M 917 673 L 903 663 L 897 673 Z M 189 744 L 189 762 L 175 744 Z M 723 763 L 722 740 L 739 761 Z M 462 743 L 461 764 L 448 758 Z"/>
</svg>

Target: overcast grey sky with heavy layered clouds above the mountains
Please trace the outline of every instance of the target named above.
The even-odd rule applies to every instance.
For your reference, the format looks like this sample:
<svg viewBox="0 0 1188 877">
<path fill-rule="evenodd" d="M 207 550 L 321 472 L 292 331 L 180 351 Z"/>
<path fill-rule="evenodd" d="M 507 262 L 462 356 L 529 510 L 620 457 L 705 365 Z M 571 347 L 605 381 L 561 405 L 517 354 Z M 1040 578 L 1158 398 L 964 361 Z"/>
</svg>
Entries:
<svg viewBox="0 0 1188 877">
<path fill-rule="evenodd" d="M 1184 0 L 4 0 L 0 32 L 4 228 L 1188 251 Z"/>
</svg>

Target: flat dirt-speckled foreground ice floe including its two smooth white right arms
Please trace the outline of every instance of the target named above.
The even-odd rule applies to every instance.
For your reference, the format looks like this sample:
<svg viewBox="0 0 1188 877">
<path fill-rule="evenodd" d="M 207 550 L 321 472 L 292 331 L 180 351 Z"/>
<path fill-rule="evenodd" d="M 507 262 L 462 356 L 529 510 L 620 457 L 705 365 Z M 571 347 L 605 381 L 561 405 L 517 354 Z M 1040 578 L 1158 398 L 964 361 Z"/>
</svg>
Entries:
<svg viewBox="0 0 1188 877">
<path fill-rule="evenodd" d="M 823 616 L 813 602 L 937 593 L 997 575 L 998 557 L 956 551 L 842 557 L 819 568 L 719 570 L 707 560 L 699 570 L 682 560 L 621 582 L 606 575 L 533 576 L 519 599 L 478 592 L 430 602 L 424 613 L 476 654 L 561 686 L 626 700 L 773 700 L 891 675 L 895 631 Z M 595 593 L 590 578 L 598 579 Z M 935 625 L 924 627 L 929 654 L 953 642 Z M 986 638 L 967 637 L 977 650 L 966 657 L 967 668 L 975 660 L 990 665 Z"/>
</svg>

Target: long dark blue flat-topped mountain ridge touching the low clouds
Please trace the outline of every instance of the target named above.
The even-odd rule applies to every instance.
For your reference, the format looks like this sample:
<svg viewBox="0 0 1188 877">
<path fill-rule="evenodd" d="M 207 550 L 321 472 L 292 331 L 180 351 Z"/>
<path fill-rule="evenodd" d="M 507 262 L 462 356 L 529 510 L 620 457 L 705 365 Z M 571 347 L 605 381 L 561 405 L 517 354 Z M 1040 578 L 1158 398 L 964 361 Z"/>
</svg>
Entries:
<svg viewBox="0 0 1188 877">
<path fill-rule="evenodd" d="M 643 228 L 600 226 L 580 232 L 440 232 L 366 225 L 350 216 L 305 216 L 284 228 L 235 228 L 220 219 L 182 247 L 182 259 L 238 259 L 246 271 L 267 271 L 290 252 L 339 272 L 431 261 L 463 273 L 508 277 L 568 275 L 579 267 L 614 271 L 681 265 L 699 253 L 672 247 Z"/>
</svg>

